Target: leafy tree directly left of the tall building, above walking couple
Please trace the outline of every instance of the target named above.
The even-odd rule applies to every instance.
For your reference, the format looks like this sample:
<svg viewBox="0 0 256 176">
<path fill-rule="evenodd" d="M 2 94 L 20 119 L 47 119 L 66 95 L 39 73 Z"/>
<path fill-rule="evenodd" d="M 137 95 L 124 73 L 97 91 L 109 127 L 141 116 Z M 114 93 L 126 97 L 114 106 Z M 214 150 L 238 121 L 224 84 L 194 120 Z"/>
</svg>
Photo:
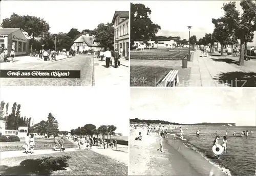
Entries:
<svg viewBox="0 0 256 176">
<path fill-rule="evenodd" d="M 94 31 L 96 38 L 95 40 L 100 43 L 100 47 L 109 47 L 110 49 L 114 48 L 113 45 L 115 29 L 111 23 L 100 23 Z"/>
</svg>

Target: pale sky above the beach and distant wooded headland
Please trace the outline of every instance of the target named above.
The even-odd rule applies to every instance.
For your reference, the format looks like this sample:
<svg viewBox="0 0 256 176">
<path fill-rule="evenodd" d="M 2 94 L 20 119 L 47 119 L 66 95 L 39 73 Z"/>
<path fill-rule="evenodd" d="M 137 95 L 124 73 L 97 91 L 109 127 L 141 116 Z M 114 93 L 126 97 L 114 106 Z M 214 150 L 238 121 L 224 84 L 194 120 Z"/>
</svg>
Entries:
<svg viewBox="0 0 256 176">
<path fill-rule="evenodd" d="M 131 88 L 130 118 L 256 125 L 251 88 Z"/>
</svg>

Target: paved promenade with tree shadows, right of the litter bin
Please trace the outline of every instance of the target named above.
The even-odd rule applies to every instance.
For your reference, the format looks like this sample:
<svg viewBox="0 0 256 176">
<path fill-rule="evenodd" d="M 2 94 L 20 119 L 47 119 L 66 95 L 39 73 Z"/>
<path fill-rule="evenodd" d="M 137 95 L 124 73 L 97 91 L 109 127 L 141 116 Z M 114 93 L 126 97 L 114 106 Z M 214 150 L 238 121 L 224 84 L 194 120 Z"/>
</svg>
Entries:
<svg viewBox="0 0 256 176">
<path fill-rule="evenodd" d="M 192 62 L 188 62 L 188 67 L 191 68 L 191 72 L 190 79 L 187 82 L 186 86 L 228 87 L 226 81 L 232 82 L 233 80 L 233 82 L 235 83 L 235 81 L 238 80 L 242 82 L 242 80 L 248 79 L 246 79 L 245 75 L 247 72 L 255 72 L 256 62 L 253 60 L 245 61 L 246 66 L 238 66 L 236 65 L 236 63 L 236 57 L 216 57 L 209 55 L 209 57 L 202 58 L 201 52 L 195 51 Z M 241 75 L 241 73 L 243 72 L 245 74 Z M 223 77 L 223 80 L 218 79 L 221 76 Z"/>
</svg>

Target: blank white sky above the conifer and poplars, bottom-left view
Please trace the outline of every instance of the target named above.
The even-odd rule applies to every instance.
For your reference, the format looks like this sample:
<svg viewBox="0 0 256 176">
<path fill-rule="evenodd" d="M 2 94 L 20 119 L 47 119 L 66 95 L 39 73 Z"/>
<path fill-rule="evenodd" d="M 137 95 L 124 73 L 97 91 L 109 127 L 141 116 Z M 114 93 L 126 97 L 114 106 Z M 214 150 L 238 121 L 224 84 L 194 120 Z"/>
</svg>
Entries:
<svg viewBox="0 0 256 176">
<path fill-rule="evenodd" d="M 21 105 L 21 116 L 31 117 L 34 124 L 47 120 L 51 112 L 60 131 L 70 131 L 85 124 L 114 124 L 116 133 L 129 134 L 129 88 L 95 87 L 1 87 L 1 101 Z M 113 96 L 113 95 L 118 96 Z M 9 113 L 10 113 L 9 112 Z M 31 120 L 32 121 L 32 120 Z"/>
</svg>

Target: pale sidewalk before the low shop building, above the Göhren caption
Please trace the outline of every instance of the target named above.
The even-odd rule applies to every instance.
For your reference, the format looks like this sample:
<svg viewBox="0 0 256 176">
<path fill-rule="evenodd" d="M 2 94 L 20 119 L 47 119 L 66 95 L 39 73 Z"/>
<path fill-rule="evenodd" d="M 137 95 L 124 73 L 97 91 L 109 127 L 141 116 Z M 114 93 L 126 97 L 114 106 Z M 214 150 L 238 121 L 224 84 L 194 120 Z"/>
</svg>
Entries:
<svg viewBox="0 0 256 176">
<path fill-rule="evenodd" d="M 67 56 L 65 56 L 65 55 L 58 55 L 58 56 L 56 56 L 56 60 L 44 61 L 44 59 L 40 59 L 38 57 L 17 56 L 14 58 L 14 60 L 16 60 L 16 62 L 14 62 L 14 63 L 29 63 L 29 62 L 42 62 L 42 61 L 53 62 L 53 61 L 62 60 L 62 59 L 66 59 L 66 58 L 67 58 Z M 7 63 L 12 62 L 11 58 L 7 58 L 7 59 L 8 59 Z M 5 63 L 4 59 L 0 59 L 0 63 Z"/>
</svg>

